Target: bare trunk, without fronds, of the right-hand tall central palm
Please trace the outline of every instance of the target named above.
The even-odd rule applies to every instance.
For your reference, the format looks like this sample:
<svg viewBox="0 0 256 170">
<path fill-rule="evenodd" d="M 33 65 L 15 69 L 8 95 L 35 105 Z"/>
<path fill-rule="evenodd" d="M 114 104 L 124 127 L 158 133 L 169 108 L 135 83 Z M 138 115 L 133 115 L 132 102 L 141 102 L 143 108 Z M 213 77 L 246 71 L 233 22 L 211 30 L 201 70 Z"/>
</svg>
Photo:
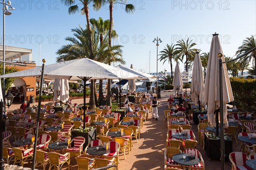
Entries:
<svg viewBox="0 0 256 170">
<path fill-rule="evenodd" d="M 111 47 L 111 34 L 112 34 L 112 23 L 113 23 L 113 4 L 109 4 L 109 32 L 108 32 L 108 45 Z M 111 65 L 111 62 L 108 63 Z M 108 79 L 108 93 L 107 93 L 107 105 L 111 106 L 111 80 Z"/>
</svg>

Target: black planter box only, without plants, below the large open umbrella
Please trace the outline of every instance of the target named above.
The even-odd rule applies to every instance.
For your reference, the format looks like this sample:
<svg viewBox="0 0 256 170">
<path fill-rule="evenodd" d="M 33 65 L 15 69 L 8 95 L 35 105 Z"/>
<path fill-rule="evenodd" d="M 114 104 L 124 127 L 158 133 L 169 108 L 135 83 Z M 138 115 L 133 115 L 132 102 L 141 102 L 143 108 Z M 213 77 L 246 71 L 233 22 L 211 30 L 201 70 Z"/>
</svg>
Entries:
<svg viewBox="0 0 256 170">
<path fill-rule="evenodd" d="M 77 131 L 72 131 L 71 132 L 71 139 L 74 139 L 77 136 L 82 136 L 85 139 L 84 145 L 83 145 L 83 150 L 85 149 L 85 147 L 87 146 L 88 143 L 90 143 L 91 141 L 96 139 L 96 128 L 94 128 L 93 130 L 91 130 L 88 133 L 85 132 L 77 132 Z M 73 147 L 73 144 L 71 144 L 71 146 Z"/>
</svg>

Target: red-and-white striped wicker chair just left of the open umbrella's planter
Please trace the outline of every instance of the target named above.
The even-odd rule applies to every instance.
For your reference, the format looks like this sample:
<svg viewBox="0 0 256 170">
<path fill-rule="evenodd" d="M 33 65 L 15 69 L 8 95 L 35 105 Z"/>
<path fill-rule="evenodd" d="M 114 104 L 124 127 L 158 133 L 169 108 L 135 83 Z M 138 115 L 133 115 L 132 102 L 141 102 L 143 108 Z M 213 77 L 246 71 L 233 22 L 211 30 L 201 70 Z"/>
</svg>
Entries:
<svg viewBox="0 0 256 170">
<path fill-rule="evenodd" d="M 67 152 L 70 153 L 71 157 L 72 156 L 81 156 L 81 153 L 84 153 L 83 152 L 83 144 L 85 142 L 84 137 L 81 137 L 81 136 L 75 137 L 74 139 L 72 139 L 70 141 L 70 146 L 71 146 L 72 142 L 74 143 L 74 146 L 67 148 Z"/>
</svg>

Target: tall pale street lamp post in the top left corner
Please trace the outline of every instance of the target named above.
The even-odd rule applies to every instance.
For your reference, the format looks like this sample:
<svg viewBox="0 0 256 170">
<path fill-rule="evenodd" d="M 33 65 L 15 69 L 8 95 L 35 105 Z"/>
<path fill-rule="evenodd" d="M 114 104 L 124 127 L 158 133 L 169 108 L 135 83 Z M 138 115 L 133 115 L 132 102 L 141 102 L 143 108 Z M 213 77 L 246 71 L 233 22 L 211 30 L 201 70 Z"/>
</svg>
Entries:
<svg viewBox="0 0 256 170">
<path fill-rule="evenodd" d="M 9 10 L 15 10 L 15 8 L 12 6 L 12 3 L 10 0 L 6 1 L 0 1 L 0 3 L 3 4 L 3 61 L 5 61 L 5 15 L 11 15 L 12 12 Z M 9 9 L 8 9 L 9 6 Z M 3 62 L 3 74 L 5 74 L 5 63 Z M 3 78 L 3 96 L 5 95 L 5 79 Z"/>
</svg>

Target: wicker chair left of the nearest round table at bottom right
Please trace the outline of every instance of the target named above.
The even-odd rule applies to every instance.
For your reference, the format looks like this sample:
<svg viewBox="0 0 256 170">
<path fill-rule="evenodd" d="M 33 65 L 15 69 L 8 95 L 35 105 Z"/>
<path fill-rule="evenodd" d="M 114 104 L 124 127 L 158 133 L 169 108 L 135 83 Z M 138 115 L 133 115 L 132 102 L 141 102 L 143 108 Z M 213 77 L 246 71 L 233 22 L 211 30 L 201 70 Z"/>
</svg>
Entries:
<svg viewBox="0 0 256 170">
<path fill-rule="evenodd" d="M 166 148 L 166 150 L 164 151 L 164 164 L 165 164 L 164 167 L 165 168 L 166 167 L 182 168 L 181 164 L 178 164 L 172 160 L 172 156 L 175 155 L 176 153 L 182 153 L 182 152 L 177 147 L 167 147 Z"/>
</svg>

